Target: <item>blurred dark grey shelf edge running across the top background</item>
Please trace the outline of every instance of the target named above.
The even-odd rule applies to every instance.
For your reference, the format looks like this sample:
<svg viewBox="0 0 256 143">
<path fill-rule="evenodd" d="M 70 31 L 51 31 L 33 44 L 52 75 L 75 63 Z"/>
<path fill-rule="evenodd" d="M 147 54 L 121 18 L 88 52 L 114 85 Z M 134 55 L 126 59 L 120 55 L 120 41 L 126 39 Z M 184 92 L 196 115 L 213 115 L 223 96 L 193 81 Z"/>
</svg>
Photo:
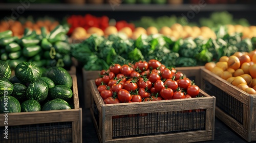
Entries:
<svg viewBox="0 0 256 143">
<path fill-rule="evenodd" d="M 204 4 L 200 11 L 256 11 L 256 4 Z M 10 10 L 22 4 L 1 4 L 0 11 Z M 33 11 L 189 11 L 195 4 L 31 4 L 26 10 Z M 199 7 L 199 5 L 197 5 Z"/>
</svg>

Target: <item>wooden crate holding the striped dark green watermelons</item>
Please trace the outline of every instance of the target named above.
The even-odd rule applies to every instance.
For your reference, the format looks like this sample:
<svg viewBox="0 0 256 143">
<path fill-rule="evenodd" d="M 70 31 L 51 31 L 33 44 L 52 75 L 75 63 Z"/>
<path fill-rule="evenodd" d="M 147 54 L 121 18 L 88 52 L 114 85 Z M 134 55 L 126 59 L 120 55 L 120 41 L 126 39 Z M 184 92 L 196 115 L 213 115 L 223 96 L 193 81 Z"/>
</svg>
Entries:
<svg viewBox="0 0 256 143">
<path fill-rule="evenodd" d="M 79 108 L 77 79 L 73 80 L 74 109 L 8 113 L 8 139 L 0 122 L 0 142 L 82 142 L 82 109 Z M 5 121 L 0 114 L 0 121 Z"/>
</svg>

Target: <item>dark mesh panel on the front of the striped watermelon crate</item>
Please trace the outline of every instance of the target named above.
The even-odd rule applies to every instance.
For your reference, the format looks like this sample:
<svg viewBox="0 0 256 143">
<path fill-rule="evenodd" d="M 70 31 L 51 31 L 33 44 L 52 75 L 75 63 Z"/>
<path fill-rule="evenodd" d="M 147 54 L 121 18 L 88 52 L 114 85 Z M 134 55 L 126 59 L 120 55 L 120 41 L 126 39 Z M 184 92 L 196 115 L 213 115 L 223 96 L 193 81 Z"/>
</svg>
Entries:
<svg viewBox="0 0 256 143">
<path fill-rule="evenodd" d="M 4 129 L 0 127 L 3 143 L 72 142 L 72 122 L 8 126 L 8 139 Z"/>
</svg>

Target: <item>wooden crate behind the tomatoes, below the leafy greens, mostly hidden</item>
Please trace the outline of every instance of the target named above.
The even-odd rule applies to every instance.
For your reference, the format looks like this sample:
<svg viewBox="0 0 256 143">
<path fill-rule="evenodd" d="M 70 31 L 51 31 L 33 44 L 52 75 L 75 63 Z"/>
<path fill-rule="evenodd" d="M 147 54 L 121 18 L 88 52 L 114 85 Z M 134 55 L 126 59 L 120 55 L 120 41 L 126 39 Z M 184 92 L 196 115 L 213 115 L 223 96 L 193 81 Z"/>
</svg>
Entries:
<svg viewBox="0 0 256 143">
<path fill-rule="evenodd" d="M 178 71 L 181 71 L 190 80 L 195 80 L 196 85 L 200 85 L 200 71 L 202 66 L 191 66 L 191 67 L 176 67 Z M 89 81 L 99 78 L 99 70 L 85 70 L 82 69 L 83 75 L 83 93 L 84 93 L 84 108 L 88 109 L 91 106 L 90 88 Z"/>
</svg>

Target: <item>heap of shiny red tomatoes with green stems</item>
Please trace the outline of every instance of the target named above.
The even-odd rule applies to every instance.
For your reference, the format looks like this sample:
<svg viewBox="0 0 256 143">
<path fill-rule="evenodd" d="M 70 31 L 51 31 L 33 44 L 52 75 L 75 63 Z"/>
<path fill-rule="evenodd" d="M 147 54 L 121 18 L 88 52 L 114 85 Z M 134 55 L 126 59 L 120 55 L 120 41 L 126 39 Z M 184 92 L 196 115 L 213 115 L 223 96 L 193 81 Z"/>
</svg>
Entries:
<svg viewBox="0 0 256 143">
<path fill-rule="evenodd" d="M 95 80 L 105 104 L 195 98 L 199 87 L 158 60 L 113 64 Z"/>
</svg>

